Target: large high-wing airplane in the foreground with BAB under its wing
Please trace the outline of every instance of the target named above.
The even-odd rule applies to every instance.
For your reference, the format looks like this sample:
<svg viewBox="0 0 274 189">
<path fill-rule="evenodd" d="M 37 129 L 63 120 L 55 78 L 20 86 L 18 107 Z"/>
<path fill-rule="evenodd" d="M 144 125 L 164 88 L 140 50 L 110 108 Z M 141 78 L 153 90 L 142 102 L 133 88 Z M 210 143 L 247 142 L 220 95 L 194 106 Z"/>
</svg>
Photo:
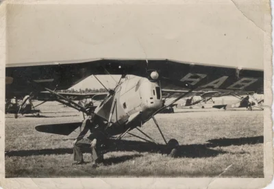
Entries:
<svg viewBox="0 0 274 189">
<path fill-rule="evenodd" d="M 6 84 L 7 97 L 14 95 L 14 92 L 23 94 L 29 91 L 48 91 L 56 97 L 56 101 L 84 114 L 90 114 L 89 110 L 55 90 L 71 88 L 90 75 L 96 79 L 96 75 L 121 75 L 121 79 L 126 75 L 135 75 L 136 77 L 124 82 L 120 79 L 111 90 L 106 88 L 107 97 L 94 110 L 96 116 L 105 121 L 105 125 L 99 127 L 103 127 L 105 135 L 115 137 L 116 140 L 121 140 L 129 134 L 147 142 L 160 144 L 141 130 L 143 125 L 152 119 L 166 144 L 166 153 L 171 157 L 175 157 L 179 142 L 175 139 L 166 141 L 155 119 L 156 114 L 195 91 L 217 91 L 224 94 L 253 91 L 262 94 L 264 89 L 263 70 L 175 60 L 99 59 L 8 64 L 5 74 L 10 81 Z M 162 90 L 184 92 L 180 92 L 179 97 L 163 105 Z M 59 123 L 38 125 L 35 128 L 40 132 L 68 136 L 81 125 L 82 122 Z M 140 131 L 146 138 L 132 134 L 132 129 Z"/>
</svg>

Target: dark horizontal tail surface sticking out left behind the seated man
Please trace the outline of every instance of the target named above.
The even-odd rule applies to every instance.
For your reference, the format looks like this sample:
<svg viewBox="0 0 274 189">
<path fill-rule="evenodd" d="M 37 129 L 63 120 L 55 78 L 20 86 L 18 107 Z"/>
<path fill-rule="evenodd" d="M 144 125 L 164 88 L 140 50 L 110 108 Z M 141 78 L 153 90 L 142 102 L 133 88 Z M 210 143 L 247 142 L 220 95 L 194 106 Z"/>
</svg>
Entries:
<svg viewBox="0 0 274 189">
<path fill-rule="evenodd" d="M 60 134 L 69 136 L 75 129 L 80 127 L 82 122 L 75 123 L 58 123 L 51 125 L 38 125 L 35 127 L 36 131 L 48 133 L 48 134 Z"/>
</svg>

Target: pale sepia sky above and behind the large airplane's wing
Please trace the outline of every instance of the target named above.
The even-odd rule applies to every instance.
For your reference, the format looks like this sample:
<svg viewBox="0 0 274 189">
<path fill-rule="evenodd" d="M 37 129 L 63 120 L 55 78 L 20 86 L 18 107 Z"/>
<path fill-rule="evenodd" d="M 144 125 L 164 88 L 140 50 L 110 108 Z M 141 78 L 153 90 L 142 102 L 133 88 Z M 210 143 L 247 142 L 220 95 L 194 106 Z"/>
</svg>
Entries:
<svg viewBox="0 0 274 189">
<path fill-rule="evenodd" d="M 200 2 L 8 5 L 7 64 L 167 58 L 262 69 L 267 6 L 251 1 Z M 101 85 L 88 77 L 75 88 Z"/>
</svg>

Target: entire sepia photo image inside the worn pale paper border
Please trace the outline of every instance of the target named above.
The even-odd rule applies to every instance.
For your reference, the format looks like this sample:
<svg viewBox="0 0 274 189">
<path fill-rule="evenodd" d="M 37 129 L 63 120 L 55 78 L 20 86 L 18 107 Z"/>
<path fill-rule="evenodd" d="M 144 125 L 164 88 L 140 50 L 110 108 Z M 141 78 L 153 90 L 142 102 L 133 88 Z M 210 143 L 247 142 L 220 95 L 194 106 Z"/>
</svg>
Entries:
<svg viewBox="0 0 274 189">
<path fill-rule="evenodd" d="M 6 6 L 6 178 L 265 177 L 269 1 Z"/>
</svg>

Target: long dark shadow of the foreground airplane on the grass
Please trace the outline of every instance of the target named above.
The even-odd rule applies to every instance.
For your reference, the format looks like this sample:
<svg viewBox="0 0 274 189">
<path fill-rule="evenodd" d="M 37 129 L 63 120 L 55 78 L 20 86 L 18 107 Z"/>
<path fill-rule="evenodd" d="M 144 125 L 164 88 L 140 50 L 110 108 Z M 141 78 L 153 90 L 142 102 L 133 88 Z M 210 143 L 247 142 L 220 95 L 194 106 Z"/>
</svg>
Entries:
<svg viewBox="0 0 274 189">
<path fill-rule="evenodd" d="M 219 138 L 208 140 L 210 143 L 206 144 L 188 144 L 180 145 L 178 147 L 177 157 L 214 157 L 219 154 L 227 153 L 222 150 L 210 149 L 214 147 L 227 147 L 230 145 L 242 145 L 242 144 L 259 144 L 263 143 L 263 136 L 247 137 L 247 138 Z M 110 139 L 110 146 L 104 151 L 105 153 L 111 151 L 137 151 L 137 152 L 149 152 L 149 153 L 166 153 L 164 144 L 153 144 L 150 142 L 141 142 L 133 140 L 114 140 Z M 59 148 L 59 149 L 40 149 L 40 150 L 18 150 L 18 151 L 6 151 L 5 156 L 31 156 L 31 155 L 62 155 L 67 153 L 73 153 L 71 148 Z M 84 153 L 90 153 L 90 148 L 84 149 Z M 142 155 L 123 155 L 121 157 L 110 157 L 106 159 L 106 164 L 115 164 L 130 160 L 134 157 L 140 157 Z"/>
</svg>

